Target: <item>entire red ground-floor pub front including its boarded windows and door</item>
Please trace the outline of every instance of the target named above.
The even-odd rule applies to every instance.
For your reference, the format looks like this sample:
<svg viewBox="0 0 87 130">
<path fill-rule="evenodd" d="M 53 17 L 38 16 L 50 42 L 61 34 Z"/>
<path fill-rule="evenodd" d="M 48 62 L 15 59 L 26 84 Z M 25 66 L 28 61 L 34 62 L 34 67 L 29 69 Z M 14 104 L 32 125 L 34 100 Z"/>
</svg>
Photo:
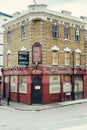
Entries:
<svg viewBox="0 0 87 130">
<path fill-rule="evenodd" d="M 77 74 L 76 74 L 77 73 Z M 2 70 L 2 98 L 25 104 L 49 104 L 53 102 L 87 98 L 86 72 L 71 68 L 25 67 Z M 74 79 L 74 81 L 72 81 Z M 74 82 L 74 90 L 73 83 Z"/>
</svg>

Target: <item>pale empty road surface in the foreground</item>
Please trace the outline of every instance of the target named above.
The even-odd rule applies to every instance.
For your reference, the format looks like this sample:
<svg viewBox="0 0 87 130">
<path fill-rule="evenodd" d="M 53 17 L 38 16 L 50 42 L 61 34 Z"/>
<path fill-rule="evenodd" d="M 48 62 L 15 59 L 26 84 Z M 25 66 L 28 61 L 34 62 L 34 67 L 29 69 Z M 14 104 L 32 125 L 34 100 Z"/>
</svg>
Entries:
<svg viewBox="0 0 87 130">
<path fill-rule="evenodd" d="M 85 130 L 87 103 L 43 111 L 19 111 L 0 106 L 0 130 Z"/>
</svg>

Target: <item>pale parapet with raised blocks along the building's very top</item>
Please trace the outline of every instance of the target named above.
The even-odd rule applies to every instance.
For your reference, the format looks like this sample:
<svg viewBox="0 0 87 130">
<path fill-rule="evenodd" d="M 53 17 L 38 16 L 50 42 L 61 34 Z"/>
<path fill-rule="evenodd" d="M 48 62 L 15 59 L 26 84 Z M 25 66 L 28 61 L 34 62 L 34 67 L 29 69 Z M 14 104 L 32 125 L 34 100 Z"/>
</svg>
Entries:
<svg viewBox="0 0 87 130">
<path fill-rule="evenodd" d="M 22 12 L 15 12 L 13 14 L 13 19 L 11 19 L 10 21 L 8 21 L 6 24 L 8 24 L 9 22 L 12 22 L 14 20 L 18 20 L 19 18 L 27 15 L 27 14 L 31 14 L 31 13 L 47 13 L 47 14 L 51 14 L 57 17 L 61 17 L 64 19 L 68 19 L 68 20 L 73 20 L 74 22 L 80 22 L 82 24 L 87 24 L 87 18 L 82 18 L 82 17 L 75 17 L 71 15 L 71 12 L 63 10 L 61 12 L 57 12 L 54 10 L 50 10 L 47 8 L 47 5 L 45 4 L 37 4 L 37 5 L 29 5 L 27 10 L 22 10 Z M 4 24 L 4 25 L 6 25 Z M 86 25 L 85 25 L 86 26 Z"/>
</svg>

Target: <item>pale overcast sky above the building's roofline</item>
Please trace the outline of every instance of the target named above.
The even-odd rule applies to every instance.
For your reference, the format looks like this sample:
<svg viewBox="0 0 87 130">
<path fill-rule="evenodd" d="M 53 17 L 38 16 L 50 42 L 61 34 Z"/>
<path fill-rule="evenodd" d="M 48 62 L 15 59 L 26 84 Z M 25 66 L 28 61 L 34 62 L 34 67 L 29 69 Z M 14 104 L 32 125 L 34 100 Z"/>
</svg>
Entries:
<svg viewBox="0 0 87 130">
<path fill-rule="evenodd" d="M 87 16 L 87 0 L 0 0 L 0 11 L 12 15 L 16 11 L 22 11 L 28 5 L 46 4 L 48 9 L 61 12 L 67 10 L 73 16 Z"/>
</svg>

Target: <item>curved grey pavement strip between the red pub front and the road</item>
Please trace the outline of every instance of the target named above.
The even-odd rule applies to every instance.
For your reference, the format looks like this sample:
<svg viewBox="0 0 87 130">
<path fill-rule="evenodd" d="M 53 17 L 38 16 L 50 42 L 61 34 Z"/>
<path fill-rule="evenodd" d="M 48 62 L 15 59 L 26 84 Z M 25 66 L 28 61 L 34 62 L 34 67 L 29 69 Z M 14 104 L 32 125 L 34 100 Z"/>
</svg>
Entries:
<svg viewBox="0 0 87 130">
<path fill-rule="evenodd" d="M 42 110 L 54 109 L 54 108 L 65 107 L 65 106 L 75 105 L 75 104 L 82 104 L 82 103 L 87 103 L 87 99 L 63 101 L 63 102 L 50 103 L 45 105 L 42 104 L 27 105 L 24 103 L 18 103 L 12 101 L 10 101 L 8 104 L 6 100 L 1 100 L 0 107 L 12 108 L 21 111 L 42 111 Z"/>
</svg>

